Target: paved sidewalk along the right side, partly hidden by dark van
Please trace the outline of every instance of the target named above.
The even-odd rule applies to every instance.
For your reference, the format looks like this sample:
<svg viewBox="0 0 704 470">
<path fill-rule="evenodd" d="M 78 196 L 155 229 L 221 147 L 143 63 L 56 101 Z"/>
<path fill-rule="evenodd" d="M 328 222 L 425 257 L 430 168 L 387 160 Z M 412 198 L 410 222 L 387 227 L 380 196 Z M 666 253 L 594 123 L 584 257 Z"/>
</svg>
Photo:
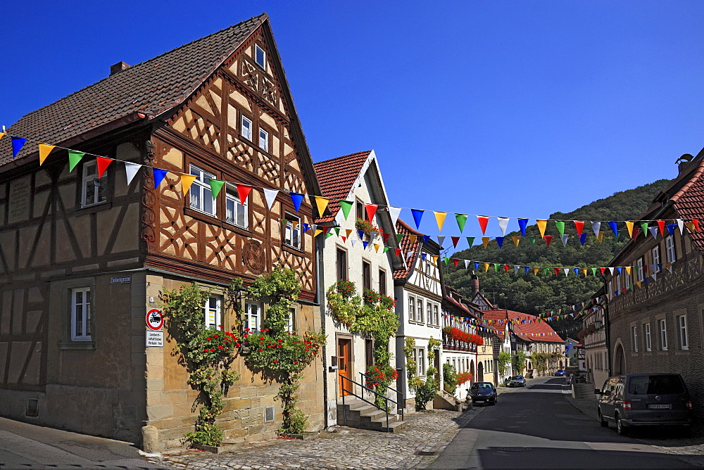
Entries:
<svg viewBox="0 0 704 470">
<path fill-rule="evenodd" d="M 593 418 L 595 421 L 598 421 L 596 398 L 575 400 L 572 398 L 572 395 L 563 396 L 565 400 L 572 403 L 579 411 Z M 604 431 L 615 432 L 613 428 L 604 428 Z M 658 437 L 658 435 L 670 435 L 672 437 Z M 633 437 L 640 440 L 642 443 L 652 445 L 662 452 L 677 455 L 677 458 L 683 462 L 698 467 L 704 467 L 704 427 L 700 423 L 692 426 L 691 438 L 680 437 L 677 433 L 664 429 L 643 430 L 636 433 Z"/>
</svg>

